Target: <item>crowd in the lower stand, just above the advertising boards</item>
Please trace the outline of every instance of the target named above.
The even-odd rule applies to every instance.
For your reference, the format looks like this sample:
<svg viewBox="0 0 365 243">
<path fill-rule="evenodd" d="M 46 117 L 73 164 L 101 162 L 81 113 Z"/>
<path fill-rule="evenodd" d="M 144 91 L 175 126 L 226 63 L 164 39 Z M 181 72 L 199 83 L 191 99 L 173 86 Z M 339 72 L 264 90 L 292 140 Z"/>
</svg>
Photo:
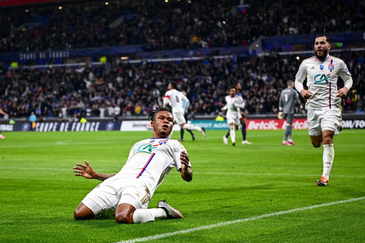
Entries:
<svg viewBox="0 0 365 243">
<path fill-rule="evenodd" d="M 339 52 L 353 75 L 342 110 L 364 110 L 364 51 Z M 280 91 L 307 56 L 234 56 L 189 62 L 48 69 L 0 68 L 0 107 L 11 117 L 146 115 L 160 106 L 170 81 L 178 83 L 195 114 L 219 114 L 230 86 L 242 85 L 247 113 L 276 113 Z M 343 83 L 339 80 L 339 86 Z M 302 102 L 303 99 L 301 99 Z M 297 112 L 299 112 L 297 110 Z"/>
</svg>

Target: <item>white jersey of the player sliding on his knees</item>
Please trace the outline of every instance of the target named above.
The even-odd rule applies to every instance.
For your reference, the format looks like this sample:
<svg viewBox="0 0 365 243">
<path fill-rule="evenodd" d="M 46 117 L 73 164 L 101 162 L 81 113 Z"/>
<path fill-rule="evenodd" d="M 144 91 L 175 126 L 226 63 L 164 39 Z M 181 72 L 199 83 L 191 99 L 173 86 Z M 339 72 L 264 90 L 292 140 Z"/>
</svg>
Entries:
<svg viewBox="0 0 365 243">
<path fill-rule="evenodd" d="M 123 181 L 119 180 L 121 178 L 135 178 L 146 184 L 152 196 L 172 168 L 181 168 L 181 150 L 187 152 L 179 141 L 169 138 L 139 141 L 133 145 L 126 164 L 108 183 Z"/>
</svg>

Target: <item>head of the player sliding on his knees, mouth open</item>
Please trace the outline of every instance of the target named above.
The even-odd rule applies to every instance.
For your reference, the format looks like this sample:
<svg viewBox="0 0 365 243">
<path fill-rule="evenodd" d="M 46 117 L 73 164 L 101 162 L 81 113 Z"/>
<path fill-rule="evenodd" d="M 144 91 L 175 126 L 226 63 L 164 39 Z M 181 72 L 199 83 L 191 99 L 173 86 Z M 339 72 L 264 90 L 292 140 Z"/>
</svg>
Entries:
<svg viewBox="0 0 365 243">
<path fill-rule="evenodd" d="M 174 117 L 168 111 L 159 111 L 151 122 L 154 137 L 167 137 L 172 131 Z"/>
</svg>

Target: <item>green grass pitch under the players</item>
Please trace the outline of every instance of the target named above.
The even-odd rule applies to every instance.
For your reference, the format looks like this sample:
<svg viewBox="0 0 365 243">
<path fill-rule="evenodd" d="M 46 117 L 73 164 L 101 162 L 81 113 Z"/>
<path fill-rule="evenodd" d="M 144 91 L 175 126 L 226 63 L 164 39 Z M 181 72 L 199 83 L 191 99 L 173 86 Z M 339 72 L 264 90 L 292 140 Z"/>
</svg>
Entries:
<svg viewBox="0 0 365 243">
<path fill-rule="evenodd" d="M 184 219 L 122 225 L 114 218 L 76 221 L 73 211 L 99 181 L 74 177 L 87 159 L 96 171 L 116 173 L 132 145 L 152 132 L 4 133 L 0 141 L 0 242 L 120 242 L 189 231 L 149 242 L 365 242 L 365 200 L 205 228 L 216 223 L 365 196 L 365 130 L 344 130 L 334 139 L 328 187 L 317 187 L 322 148 L 307 131 L 248 131 L 252 145 L 224 145 L 226 131 L 196 134 L 185 145 L 193 180 L 173 170 L 150 208 L 166 199 Z M 177 138 L 178 132 L 173 138 Z"/>
</svg>

